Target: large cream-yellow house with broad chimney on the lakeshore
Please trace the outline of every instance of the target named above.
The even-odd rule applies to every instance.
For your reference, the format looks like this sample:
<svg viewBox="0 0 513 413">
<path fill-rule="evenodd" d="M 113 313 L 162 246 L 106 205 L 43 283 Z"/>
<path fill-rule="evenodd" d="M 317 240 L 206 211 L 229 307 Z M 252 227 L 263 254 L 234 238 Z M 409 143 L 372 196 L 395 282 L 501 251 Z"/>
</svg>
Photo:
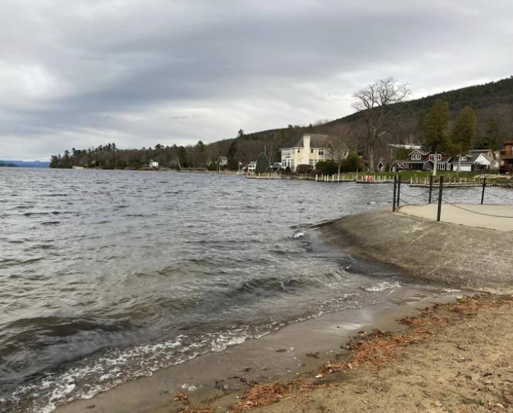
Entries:
<svg viewBox="0 0 513 413">
<path fill-rule="evenodd" d="M 339 142 L 335 136 L 323 134 L 304 134 L 294 146 L 280 151 L 282 168 L 289 167 L 294 171 L 298 165 L 311 165 L 315 168 L 320 161 L 340 161 L 349 154 L 344 142 Z"/>
</svg>

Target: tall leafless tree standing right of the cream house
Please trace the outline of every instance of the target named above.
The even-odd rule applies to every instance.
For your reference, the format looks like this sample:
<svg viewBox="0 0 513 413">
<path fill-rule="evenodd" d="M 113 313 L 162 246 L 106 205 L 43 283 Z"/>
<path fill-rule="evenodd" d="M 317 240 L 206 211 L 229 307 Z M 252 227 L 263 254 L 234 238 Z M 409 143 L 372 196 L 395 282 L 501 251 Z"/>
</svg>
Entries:
<svg viewBox="0 0 513 413">
<path fill-rule="evenodd" d="M 374 81 L 367 88 L 355 93 L 353 107 L 362 113 L 367 125 L 369 168 L 374 172 L 374 146 L 381 136 L 390 132 L 401 122 L 400 112 L 393 105 L 403 102 L 410 95 L 410 86 L 395 78 Z"/>
</svg>

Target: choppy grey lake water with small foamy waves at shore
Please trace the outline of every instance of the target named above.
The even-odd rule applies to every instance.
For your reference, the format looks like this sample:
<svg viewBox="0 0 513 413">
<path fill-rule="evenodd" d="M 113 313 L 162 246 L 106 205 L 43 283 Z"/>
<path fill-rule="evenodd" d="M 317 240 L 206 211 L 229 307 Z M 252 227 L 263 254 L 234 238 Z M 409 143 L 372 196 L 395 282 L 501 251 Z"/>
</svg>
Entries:
<svg viewBox="0 0 513 413">
<path fill-rule="evenodd" d="M 1 168 L 0 410 L 50 412 L 386 300 L 393 274 L 351 272 L 308 227 L 390 200 L 390 185 Z"/>
</svg>

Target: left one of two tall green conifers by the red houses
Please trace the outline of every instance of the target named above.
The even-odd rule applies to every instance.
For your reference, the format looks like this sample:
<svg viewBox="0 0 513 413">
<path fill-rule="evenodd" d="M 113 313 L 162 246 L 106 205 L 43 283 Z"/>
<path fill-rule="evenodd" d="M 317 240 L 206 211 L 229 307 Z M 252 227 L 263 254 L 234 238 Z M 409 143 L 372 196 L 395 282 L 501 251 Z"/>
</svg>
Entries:
<svg viewBox="0 0 513 413">
<path fill-rule="evenodd" d="M 437 175 L 437 156 L 439 151 L 451 149 L 449 136 L 446 134 L 449 125 L 449 105 L 442 99 L 434 101 L 430 112 L 424 118 L 424 146 L 434 153 L 433 175 Z"/>
</svg>

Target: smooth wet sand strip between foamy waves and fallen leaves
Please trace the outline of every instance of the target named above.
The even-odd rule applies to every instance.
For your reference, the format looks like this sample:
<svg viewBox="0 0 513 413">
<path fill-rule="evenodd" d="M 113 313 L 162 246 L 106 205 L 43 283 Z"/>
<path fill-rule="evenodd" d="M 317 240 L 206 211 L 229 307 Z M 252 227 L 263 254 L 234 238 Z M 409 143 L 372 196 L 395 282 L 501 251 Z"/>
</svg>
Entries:
<svg viewBox="0 0 513 413">
<path fill-rule="evenodd" d="M 460 293 L 457 293 L 460 294 Z M 198 356 L 186 363 L 157 371 L 100 393 L 91 400 L 76 400 L 57 413 L 175 412 L 183 407 L 174 400 L 184 391 L 193 403 L 217 405 L 226 411 L 256 383 L 313 378 L 318 366 L 338 357 L 341 345 L 359 330 L 371 326 L 396 329 L 396 318 L 416 313 L 434 302 L 454 299 L 454 293 L 399 288 L 386 304 L 355 308 L 297 322 L 260 339 Z M 307 355 L 308 354 L 308 355 Z"/>
</svg>

